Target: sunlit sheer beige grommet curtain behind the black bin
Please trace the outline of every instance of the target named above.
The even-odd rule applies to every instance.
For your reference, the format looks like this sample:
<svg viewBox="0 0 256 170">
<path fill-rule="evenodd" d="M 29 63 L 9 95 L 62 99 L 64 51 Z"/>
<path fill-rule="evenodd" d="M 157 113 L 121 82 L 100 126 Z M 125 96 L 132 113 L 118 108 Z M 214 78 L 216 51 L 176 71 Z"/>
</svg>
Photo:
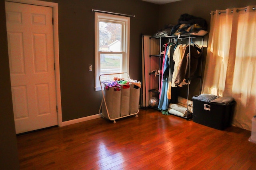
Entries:
<svg viewBox="0 0 256 170">
<path fill-rule="evenodd" d="M 252 129 L 256 115 L 256 6 L 211 13 L 202 93 L 232 96 L 233 125 Z"/>
</svg>

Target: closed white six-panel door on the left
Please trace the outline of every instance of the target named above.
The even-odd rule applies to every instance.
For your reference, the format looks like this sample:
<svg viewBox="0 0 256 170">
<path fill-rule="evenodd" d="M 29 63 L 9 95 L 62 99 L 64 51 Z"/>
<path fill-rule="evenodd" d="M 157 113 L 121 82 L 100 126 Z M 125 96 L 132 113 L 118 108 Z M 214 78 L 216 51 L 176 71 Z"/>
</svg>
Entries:
<svg viewBox="0 0 256 170">
<path fill-rule="evenodd" d="M 58 125 L 52 8 L 6 2 L 16 133 Z"/>
</svg>

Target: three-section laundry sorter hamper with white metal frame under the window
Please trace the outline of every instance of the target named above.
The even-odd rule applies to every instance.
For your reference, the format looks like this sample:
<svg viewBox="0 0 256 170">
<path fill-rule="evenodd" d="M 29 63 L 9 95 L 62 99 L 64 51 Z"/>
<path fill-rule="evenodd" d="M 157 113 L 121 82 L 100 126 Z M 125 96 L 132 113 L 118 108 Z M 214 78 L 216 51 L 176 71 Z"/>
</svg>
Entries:
<svg viewBox="0 0 256 170">
<path fill-rule="evenodd" d="M 110 87 L 108 86 L 108 84 L 112 81 L 105 80 L 106 78 L 103 77 L 109 77 L 114 75 L 124 76 L 130 79 L 129 74 L 126 72 L 101 74 L 99 76 L 100 87 L 103 96 L 99 109 L 99 114 L 102 115 L 102 117 L 106 117 L 107 119 L 113 121 L 113 123 L 116 123 L 115 120 L 122 117 L 127 117 L 131 115 L 135 115 L 135 117 L 138 117 L 137 114 L 139 112 L 140 87 L 132 83 Z M 102 113 L 100 113 L 101 110 Z"/>
</svg>

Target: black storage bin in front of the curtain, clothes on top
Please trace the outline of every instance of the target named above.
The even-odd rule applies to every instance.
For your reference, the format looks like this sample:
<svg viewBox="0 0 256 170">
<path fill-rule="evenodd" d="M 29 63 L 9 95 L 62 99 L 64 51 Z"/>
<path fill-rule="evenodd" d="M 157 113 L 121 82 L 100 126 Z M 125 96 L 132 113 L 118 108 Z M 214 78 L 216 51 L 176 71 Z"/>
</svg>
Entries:
<svg viewBox="0 0 256 170">
<path fill-rule="evenodd" d="M 231 125 L 236 102 L 222 105 L 193 99 L 193 121 L 224 130 Z"/>
</svg>

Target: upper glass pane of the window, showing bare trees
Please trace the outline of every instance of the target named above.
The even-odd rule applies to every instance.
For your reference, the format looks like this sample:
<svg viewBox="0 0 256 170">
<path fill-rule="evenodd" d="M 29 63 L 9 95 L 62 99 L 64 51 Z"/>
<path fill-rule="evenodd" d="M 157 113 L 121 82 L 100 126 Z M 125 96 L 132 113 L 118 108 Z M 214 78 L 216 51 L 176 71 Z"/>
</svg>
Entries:
<svg viewBox="0 0 256 170">
<path fill-rule="evenodd" d="M 122 25 L 118 23 L 99 22 L 99 26 L 99 50 L 122 51 Z"/>
</svg>

